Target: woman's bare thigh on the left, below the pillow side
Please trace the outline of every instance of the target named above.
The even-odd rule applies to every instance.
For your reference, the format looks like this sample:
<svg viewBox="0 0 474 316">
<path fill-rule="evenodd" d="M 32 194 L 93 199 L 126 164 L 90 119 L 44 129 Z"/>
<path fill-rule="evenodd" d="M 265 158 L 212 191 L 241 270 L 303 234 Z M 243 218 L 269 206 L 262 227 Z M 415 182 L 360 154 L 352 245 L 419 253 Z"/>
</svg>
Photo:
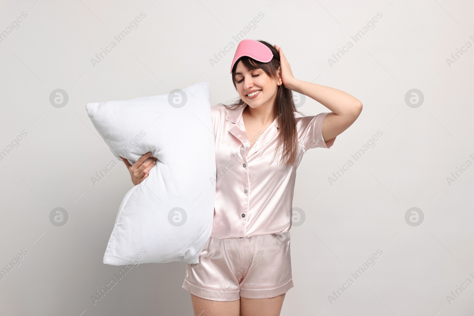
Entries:
<svg viewBox="0 0 474 316">
<path fill-rule="evenodd" d="M 221 302 L 200 298 L 191 294 L 191 301 L 194 316 L 239 316 L 240 299 L 231 302 Z"/>
</svg>

